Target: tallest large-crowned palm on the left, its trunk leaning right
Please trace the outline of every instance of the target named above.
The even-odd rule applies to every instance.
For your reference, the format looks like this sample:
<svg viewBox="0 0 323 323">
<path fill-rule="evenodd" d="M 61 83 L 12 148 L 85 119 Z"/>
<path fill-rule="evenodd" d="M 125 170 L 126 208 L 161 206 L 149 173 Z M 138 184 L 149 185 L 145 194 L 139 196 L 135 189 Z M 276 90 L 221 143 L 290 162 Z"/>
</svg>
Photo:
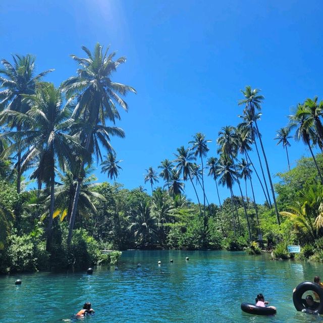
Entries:
<svg viewBox="0 0 323 323">
<path fill-rule="evenodd" d="M 70 77 L 63 82 L 62 86 L 68 98 L 74 95 L 77 96 L 77 105 L 73 112 L 73 118 L 84 120 L 87 123 L 88 127 L 84 127 L 81 133 L 82 145 L 87 152 L 92 153 L 90 143 L 93 137 L 93 129 L 97 126 L 105 127 L 107 120 L 115 123 L 116 119 L 120 119 L 117 105 L 126 111 L 128 110 L 128 104 L 120 95 L 125 95 L 129 91 L 136 93 L 136 91 L 131 86 L 113 82 L 111 79 L 118 66 L 126 62 L 125 57 L 114 61 L 116 52 L 107 55 L 109 47 L 103 52 L 103 46 L 99 43 L 95 45 L 93 53 L 85 46 L 82 46 L 82 49 L 86 53 L 86 58 L 72 55 L 72 59 L 80 67 L 77 70 L 78 75 Z M 102 139 L 102 134 L 100 133 L 97 137 Z M 84 164 L 85 160 L 83 159 L 80 169 L 83 169 Z M 73 201 L 68 244 L 71 243 L 72 239 L 81 182 L 82 177 L 80 176 Z"/>
</svg>

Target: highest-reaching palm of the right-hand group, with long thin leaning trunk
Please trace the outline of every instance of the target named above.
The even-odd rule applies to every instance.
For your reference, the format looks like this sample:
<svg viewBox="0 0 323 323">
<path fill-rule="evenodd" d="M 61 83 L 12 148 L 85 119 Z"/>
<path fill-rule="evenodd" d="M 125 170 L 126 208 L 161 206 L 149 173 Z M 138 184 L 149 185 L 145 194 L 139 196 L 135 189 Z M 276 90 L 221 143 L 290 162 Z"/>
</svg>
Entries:
<svg viewBox="0 0 323 323">
<path fill-rule="evenodd" d="M 242 100 L 239 100 L 239 105 L 245 105 L 244 110 L 249 111 L 251 116 L 255 116 L 256 115 L 255 109 L 257 109 L 259 111 L 261 110 L 261 103 L 263 102 L 264 96 L 259 94 L 260 90 L 251 89 L 250 86 L 246 86 L 245 90 L 241 90 L 241 92 L 242 92 L 244 98 Z M 275 212 L 276 212 L 276 217 L 277 217 L 277 223 L 280 225 L 281 221 L 280 221 L 280 218 L 279 218 L 279 213 L 278 213 L 278 208 L 277 208 L 277 203 L 276 203 L 274 185 L 273 185 L 273 181 L 272 181 L 271 172 L 269 170 L 267 157 L 266 157 L 264 147 L 263 147 L 263 144 L 262 144 L 261 134 L 260 134 L 258 124 L 257 124 L 257 118 L 254 118 L 254 124 L 256 126 L 256 130 L 257 130 L 257 134 L 258 134 L 258 138 L 259 138 L 259 142 L 260 142 L 260 147 L 261 147 L 263 158 L 264 158 L 264 161 L 265 161 L 265 164 L 266 164 L 269 183 L 271 185 L 272 196 L 273 196 Z"/>
</svg>

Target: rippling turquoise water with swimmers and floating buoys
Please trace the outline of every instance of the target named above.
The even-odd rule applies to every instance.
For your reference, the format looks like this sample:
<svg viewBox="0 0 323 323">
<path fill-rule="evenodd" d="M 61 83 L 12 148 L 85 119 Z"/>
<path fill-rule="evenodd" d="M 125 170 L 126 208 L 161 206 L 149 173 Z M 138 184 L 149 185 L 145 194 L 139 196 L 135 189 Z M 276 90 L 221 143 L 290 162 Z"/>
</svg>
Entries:
<svg viewBox="0 0 323 323">
<path fill-rule="evenodd" d="M 244 252 L 164 250 L 125 251 L 118 267 L 94 268 L 92 276 L 1 276 L 0 322 L 62 322 L 86 301 L 95 315 L 74 322 L 323 322 L 323 315 L 296 312 L 292 302 L 296 285 L 323 276 L 321 264 Z M 15 286 L 18 278 L 21 286 Z M 277 307 L 277 315 L 241 311 L 241 302 L 253 302 L 257 293 Z"/>
</svg>

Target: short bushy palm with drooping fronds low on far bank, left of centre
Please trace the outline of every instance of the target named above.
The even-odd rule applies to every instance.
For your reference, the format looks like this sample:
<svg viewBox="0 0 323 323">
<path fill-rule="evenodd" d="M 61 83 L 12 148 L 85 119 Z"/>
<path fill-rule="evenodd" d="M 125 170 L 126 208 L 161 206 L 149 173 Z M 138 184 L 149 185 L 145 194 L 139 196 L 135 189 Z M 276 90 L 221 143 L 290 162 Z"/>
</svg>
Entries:
<svg viewBox="0 0 323 323">
<path fill-rule="evenodd" d="M 146 242 L 150 242 L 156 235 L 157 219 L 150 212 L 150 201 L 146 199 L 140 202 L 137 210 L 128 219 L 131 221 L 129 230 L 134 232 L 135 238 L 141 238 L 141 245 L 145 246 Z"/>
</svg>

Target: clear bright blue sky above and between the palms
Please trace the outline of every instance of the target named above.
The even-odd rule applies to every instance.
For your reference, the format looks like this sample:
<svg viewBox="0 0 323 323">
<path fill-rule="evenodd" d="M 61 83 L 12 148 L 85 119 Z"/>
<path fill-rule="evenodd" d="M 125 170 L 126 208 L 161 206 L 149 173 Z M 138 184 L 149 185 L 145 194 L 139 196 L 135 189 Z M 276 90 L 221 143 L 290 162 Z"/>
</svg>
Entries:
<svg viewBox="0 0 323 323">
<path fill-rule="evenodd" d="M 239 122 L 240 89 L 260 88 L 259 128 L 276 174 L 287 169 L 285 151 L 273 140 L 276 130 L 295 103 L 322 98 L 322 16 L 320 0 L 2 0 L 0 57 L 33 53 L 39 71 L 56 69 L 46 79 L 56 85 L 75 74 L 69 55 L 81 56 L 81 45 L 111 44 L 127 57 L 114 80 L 138 94 L 126 97 L 129 113 L 117 124 L 126 138 L 112 144 L 124 159 L 118 181 L 130 189 L 143 185 L 145 169 L 172 159 L 196 132 L 212 140 L 209 156 L 215 155 L 220 128 Z M 308 150 L 292 140 L 292 165 L 301 155 Z M 96 175 L 106 179 L 99 166 Z M 216 202 L 210 178 L 205 186 Z M 260 202 L 256 182 L 255 189 Z M 190 183 L 186 193 L 196 200 Z M 229 195 L 224 188 L 220 194 Z"/>
</svg>

